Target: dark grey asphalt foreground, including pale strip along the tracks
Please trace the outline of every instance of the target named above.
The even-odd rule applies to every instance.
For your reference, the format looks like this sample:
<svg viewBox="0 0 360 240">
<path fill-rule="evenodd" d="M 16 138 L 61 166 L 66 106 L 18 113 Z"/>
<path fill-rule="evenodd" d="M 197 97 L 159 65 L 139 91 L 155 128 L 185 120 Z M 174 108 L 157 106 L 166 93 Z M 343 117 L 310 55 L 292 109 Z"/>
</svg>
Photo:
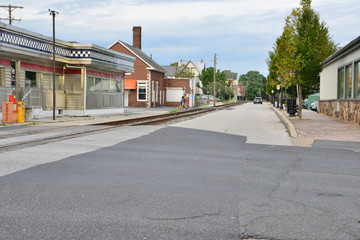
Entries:
<svg viewBox="0 0 360 240">
<path fill-rule="evenodd" d="M 360 239 L 358 153 L 246 140 L 138 126 L 0 153 L 0 239 Z"/>
</svg>

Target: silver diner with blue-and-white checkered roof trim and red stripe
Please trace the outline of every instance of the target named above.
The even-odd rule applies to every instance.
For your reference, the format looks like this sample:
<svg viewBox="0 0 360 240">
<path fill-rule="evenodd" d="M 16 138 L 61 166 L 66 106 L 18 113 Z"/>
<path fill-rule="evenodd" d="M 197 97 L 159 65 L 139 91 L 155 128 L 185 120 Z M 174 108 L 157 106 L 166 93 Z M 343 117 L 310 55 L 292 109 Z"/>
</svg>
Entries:
<svg viewBox="0 0 360 240">
<path fill-rule="evenodd" d="M 134 57 L 94 44 L 56 39 L 55 46 L 56 115 L 124 112 Z M 52 49 L 52 37 L 0 23 L 0 101 L 15 95 L 28 119 L 53 114 Z"/>
</svg>

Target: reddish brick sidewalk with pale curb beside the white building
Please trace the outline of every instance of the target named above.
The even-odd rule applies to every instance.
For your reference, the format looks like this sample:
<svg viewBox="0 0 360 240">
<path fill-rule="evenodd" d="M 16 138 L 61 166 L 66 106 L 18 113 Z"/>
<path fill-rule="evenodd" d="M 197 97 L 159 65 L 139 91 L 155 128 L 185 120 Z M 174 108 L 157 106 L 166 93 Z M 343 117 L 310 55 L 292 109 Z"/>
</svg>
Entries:
<svg viewBox="0 0 360 240">
<path fill-rule="evenodd" d="M 289 117 L 286 111 L 270 106 L 287 126 L 294 145 L 312 146 L 315 140 L 360 143 L 360 126 L 356 124 L 311 110 L 303 110 L 302 119 Z"/>
</svg>

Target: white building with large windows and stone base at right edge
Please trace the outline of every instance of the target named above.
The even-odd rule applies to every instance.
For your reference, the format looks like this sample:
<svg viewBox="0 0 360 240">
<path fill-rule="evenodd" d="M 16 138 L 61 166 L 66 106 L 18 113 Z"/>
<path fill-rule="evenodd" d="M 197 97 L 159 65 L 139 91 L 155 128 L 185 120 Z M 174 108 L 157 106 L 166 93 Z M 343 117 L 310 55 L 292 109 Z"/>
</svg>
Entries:
<svg viewBox="0 0 360 240">
<path fill-rule="evenodd" d="M 360 37 L 323 63 L 319 111 L 360 125 Z"/>
</svg>

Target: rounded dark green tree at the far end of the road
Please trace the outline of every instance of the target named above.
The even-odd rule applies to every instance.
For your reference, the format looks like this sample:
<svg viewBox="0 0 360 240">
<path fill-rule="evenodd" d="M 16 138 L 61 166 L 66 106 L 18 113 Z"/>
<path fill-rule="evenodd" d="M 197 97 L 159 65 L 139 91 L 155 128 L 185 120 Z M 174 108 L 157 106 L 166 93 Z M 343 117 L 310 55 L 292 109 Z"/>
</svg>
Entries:
<svg viewBox="0 0 360 240">
<path fill-rule="evenodd" d="M 258 71 L 249 71 L 239 77 L 239 82 L 246 88 L 246 99 L 266 97 L 266 78 Z"/>
</svg>

